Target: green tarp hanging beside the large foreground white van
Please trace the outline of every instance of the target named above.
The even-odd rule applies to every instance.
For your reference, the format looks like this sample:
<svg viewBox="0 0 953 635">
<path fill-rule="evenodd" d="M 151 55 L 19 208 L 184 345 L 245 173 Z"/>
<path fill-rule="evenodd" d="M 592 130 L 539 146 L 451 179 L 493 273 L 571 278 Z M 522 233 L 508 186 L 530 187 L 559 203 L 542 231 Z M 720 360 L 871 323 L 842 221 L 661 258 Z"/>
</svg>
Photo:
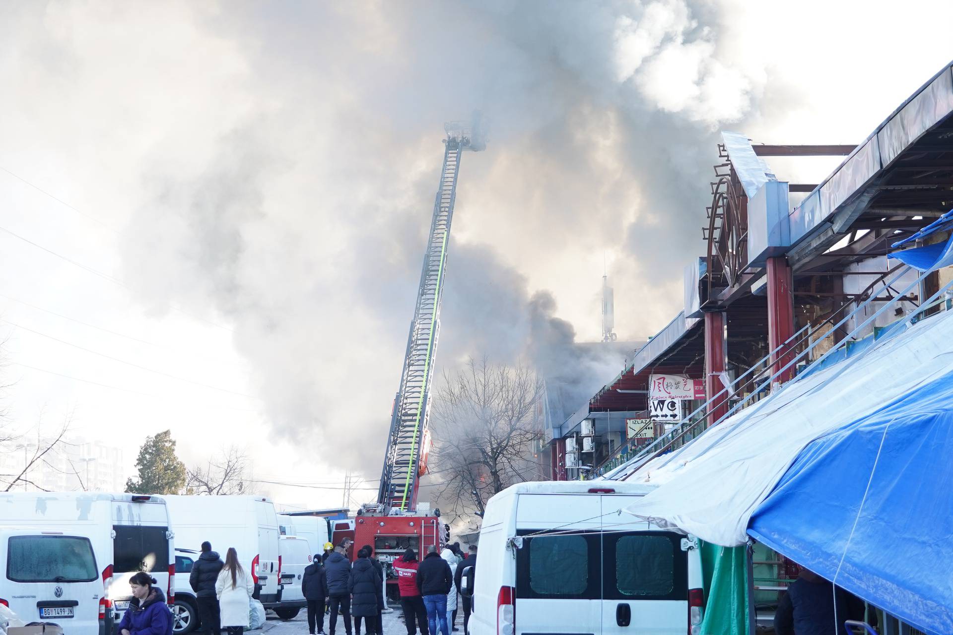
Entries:
<svg viewBox="0 0 953 635">
<path fill-rule="evenodd" d="M 707 600 L 701 635 L 750 635 L 745 549 L 701 542 L 701 572 Z"/>
</svg>

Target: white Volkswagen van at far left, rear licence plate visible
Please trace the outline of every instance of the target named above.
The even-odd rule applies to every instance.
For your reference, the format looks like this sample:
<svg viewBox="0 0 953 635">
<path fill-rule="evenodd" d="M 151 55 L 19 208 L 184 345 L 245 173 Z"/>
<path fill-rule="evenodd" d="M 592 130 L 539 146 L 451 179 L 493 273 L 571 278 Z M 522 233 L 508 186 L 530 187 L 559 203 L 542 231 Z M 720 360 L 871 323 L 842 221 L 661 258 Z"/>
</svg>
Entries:
<svg viewBox="0 0 953 635">
<path fill-rule="evenodd" d="M 24 622 L 51 622 L 71 635 L 109 635 L 105 588 L 89 529 L 0 527 L 0 604 Z"/>
</svg>

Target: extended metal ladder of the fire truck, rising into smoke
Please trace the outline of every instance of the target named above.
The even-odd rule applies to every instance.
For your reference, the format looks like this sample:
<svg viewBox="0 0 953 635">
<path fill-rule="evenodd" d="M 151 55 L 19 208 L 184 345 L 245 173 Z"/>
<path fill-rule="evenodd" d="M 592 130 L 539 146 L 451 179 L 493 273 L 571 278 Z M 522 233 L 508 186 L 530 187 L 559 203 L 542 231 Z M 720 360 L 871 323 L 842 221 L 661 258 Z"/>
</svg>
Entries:
<svg viewBox="0 0 953 635">
<path fill-rule="evenodd" d="M 440 329 L 440 295 L 446 273 L 450 224 L 454 217 L 460 155 L 466 149 L 482 149 L 482 145 L 473 142 L 471 131 L 466 127 L 448 124 L 446 129 L 434 218 L 420 273 L 414 320 L 391 415 L 391 431 L 377 494 L 378 504 L 400 511 L 416 506 L 421 446 L 427 441 L 428 402 Z"/>
</svg>

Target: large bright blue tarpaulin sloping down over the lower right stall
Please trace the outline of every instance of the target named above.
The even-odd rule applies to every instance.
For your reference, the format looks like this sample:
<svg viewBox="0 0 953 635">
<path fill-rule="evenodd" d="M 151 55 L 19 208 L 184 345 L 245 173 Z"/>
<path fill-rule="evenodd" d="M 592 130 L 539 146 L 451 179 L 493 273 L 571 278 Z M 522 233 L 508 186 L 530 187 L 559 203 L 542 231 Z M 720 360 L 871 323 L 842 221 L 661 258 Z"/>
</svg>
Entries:
<svg viewBox="0 0 953 635">
<path fill-rule="evenodd" d="M 924 632 L 953 633 L 953 372 L 806 446 L 748 533 Z"/>
</svg>

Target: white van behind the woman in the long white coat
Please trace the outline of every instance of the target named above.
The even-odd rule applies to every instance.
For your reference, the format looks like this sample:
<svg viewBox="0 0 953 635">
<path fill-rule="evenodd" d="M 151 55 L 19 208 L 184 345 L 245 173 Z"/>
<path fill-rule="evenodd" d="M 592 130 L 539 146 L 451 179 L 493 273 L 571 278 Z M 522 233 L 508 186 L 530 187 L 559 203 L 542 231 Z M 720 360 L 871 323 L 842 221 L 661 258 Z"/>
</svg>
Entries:
<svg viewBox="0 0 953 635">
<path fill-rule="evenodd" d="M 281 601 L 278 518 L 261 496 L 166 496 L 175 545 L 198 551 L 212 543 L 222 560 L 233 546 L 238 562 L 252 574 L 254 597 L 266 608 Z"/>
</svg>

